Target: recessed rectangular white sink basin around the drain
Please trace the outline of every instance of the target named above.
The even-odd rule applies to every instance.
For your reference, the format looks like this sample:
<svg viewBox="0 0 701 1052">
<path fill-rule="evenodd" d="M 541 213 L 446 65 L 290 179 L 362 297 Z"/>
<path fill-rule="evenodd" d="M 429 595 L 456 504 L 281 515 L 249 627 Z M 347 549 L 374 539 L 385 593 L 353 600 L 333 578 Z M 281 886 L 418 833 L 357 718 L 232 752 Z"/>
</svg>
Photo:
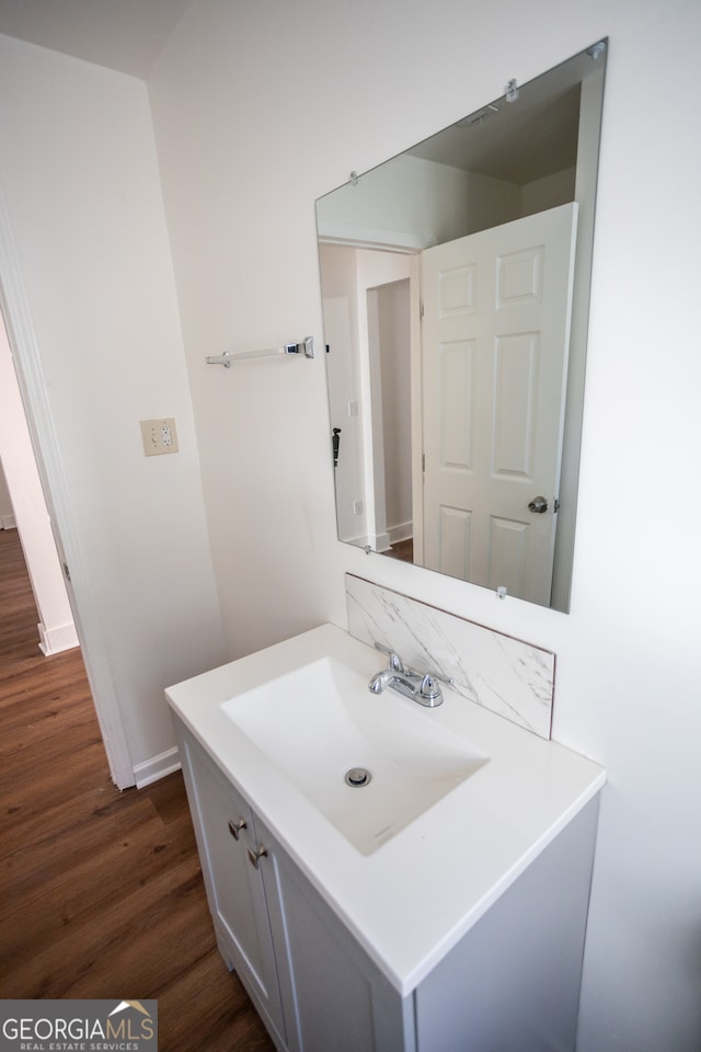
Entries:
<svg viewBox="0 0 701 1052">
<path fill-rule="evenodd" d="M 433 710 L 390 688 L 372 694 L 367 678 L 327 656 L 225 701 L 221 709 L 363 855 L 489 758 L 432 722 Z M 346 774 L 358 768 L 369 780 L 348 785 Z"/>
</svg>

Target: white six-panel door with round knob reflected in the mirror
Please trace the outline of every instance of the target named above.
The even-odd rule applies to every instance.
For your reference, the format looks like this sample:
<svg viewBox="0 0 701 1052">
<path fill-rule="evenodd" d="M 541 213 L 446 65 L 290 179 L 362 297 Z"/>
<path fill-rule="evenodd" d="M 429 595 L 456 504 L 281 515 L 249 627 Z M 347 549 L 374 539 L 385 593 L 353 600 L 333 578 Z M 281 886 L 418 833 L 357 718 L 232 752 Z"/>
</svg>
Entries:
<svg viewBox="0 0 701 1052">
<path fill-rule="evenodd" d="M 424 564 L 549 605 L 576 204 L 422 253 Z M 543 513 L 529 510 L 539 496 Z"/>
</svg>

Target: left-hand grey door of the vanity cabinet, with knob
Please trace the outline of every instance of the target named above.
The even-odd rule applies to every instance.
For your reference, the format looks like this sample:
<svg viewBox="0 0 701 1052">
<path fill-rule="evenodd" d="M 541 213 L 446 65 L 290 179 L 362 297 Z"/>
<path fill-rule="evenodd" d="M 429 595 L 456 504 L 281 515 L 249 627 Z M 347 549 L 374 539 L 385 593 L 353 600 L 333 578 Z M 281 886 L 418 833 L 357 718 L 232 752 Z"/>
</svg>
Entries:
<svg viewBox="0 0 701 1052">
<path fill-rule="evenodd" d="M 275 953 L 251 810 L 188 734 L 180 735 L 181 758 L 197 835 L 209 908 L 219 949 L 234 968 L 268 1028 L 285 1029 Z"/>
</svg>

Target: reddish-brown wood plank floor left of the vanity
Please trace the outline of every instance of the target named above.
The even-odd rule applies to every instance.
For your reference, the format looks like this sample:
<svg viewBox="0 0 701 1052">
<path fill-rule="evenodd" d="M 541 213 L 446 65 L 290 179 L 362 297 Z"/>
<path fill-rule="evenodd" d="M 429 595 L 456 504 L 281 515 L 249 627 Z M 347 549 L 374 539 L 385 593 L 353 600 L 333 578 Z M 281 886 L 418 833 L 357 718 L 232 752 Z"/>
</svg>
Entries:
<svg viewBox="0 0 701 1052">
<path fill-rule="evenodd" d="M 118 792 L 79 650 L 0 530 L 0 998 L 158 999 L 161 1052 L 272 1052 L 220 958 L 179 774 Z"/>
</svg>

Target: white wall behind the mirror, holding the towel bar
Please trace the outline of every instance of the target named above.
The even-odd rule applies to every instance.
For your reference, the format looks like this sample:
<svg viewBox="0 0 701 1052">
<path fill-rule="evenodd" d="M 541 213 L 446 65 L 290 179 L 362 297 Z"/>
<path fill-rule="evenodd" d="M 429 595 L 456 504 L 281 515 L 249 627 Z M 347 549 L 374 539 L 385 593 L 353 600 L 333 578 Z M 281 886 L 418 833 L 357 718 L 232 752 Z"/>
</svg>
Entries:
<svg viewBox="0 0 701 1052">
<path fill-rule="evenodd" d="M 199 0 L 149 83 L 231 651 L 343 624 L 344 570 L 556 651 L 555 735 L 610 771 L 579 1052 L 701 1042 L 700 16 L 682 0 Z M 313 199 L 606 34 L 564 616 L 336 544 L 323 357 L 234 373 L 204 355 L 321 342 Z"/>
</svg>

